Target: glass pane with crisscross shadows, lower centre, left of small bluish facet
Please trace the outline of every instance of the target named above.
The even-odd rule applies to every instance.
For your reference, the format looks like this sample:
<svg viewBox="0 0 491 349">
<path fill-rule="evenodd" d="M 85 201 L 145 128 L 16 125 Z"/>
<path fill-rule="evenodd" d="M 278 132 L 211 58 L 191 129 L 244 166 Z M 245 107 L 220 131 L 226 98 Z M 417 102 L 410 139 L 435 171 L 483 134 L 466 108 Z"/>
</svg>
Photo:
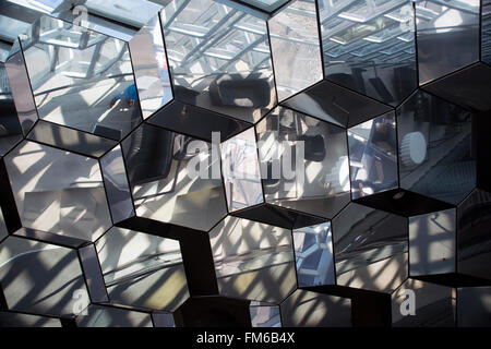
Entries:
<svg viewBox="0 0 491 349">
<path fill-rule="evenodd" d="M 291 230 L 228 216 L 209 242 L 220 294 L 277 303 L 296 288 Z"/>
</svg>

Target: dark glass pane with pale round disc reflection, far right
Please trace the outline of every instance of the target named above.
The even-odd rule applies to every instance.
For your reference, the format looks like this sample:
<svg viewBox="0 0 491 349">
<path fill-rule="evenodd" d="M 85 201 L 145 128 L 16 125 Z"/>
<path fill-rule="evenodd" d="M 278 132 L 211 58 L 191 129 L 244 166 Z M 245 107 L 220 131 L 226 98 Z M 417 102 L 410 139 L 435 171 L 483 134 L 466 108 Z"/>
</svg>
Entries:
<svg viewBox="0 0 491 349">
<path fill-rule="evenodd" d="M 400 186 L 459 203 L 476 185 L 470 112 L 417 92 L 396 116 Z"/>
</svg>

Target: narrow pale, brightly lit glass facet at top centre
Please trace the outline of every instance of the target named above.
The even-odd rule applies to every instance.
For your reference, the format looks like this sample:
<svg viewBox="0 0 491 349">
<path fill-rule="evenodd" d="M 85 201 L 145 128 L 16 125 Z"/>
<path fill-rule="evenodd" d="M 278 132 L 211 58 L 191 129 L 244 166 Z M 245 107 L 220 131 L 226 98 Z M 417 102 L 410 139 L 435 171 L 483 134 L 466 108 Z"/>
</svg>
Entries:
<svg viewBox="0 0 491 349">
<path fill-rule="evenodd" d="M 322 80 L 318 25 L 314 0 L 294 1 L 268 21 L 279 100 Z"/>
</svg>

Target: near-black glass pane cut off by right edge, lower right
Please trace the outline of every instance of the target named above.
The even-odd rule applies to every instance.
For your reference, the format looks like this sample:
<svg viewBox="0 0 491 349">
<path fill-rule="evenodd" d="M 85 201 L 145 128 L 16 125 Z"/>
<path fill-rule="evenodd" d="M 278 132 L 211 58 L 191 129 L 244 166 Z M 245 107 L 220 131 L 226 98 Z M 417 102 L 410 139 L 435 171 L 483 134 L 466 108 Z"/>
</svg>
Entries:
<svg viewBox="0 0 491 349">
<path fill-rule="evenodd" d="M 458 273 L 491 279 L 491 194 L 475 190 L 457 207 Z"/>
</svg>

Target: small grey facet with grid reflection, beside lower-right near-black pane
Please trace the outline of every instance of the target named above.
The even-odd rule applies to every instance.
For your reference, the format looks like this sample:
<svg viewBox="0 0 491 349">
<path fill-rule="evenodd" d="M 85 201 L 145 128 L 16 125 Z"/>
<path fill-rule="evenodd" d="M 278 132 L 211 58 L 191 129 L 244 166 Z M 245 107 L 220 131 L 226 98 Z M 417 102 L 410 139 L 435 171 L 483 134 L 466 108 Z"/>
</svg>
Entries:
<svg viewBox="0 0 491 349">
<path fill-rule="evenodd" d="M 409 217 L 409 275 L 455 273 L 455 209 Z"/>
</svg>

